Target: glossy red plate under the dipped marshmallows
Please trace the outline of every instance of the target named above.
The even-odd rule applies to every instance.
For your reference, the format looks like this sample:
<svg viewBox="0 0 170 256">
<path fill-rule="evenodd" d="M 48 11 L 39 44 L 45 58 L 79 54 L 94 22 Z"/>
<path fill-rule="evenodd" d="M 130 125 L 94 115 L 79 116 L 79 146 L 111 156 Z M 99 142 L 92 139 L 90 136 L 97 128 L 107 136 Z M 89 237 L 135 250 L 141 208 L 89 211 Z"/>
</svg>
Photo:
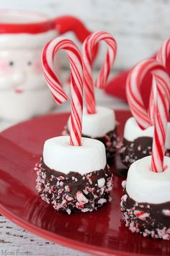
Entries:
<svg viewBox="0 0 170 256">
<path fill-rule="evenodd" d="M 119 132 L 130 113 L 116 111 Z M 68 114 L 25 121 L 0 135 L 0 212 L 45 239 L 95 255 L 170 255 L 170 243 L 133 234 L 121 220 L 122 179 L 115 175 L 113 200 L 94 213 L 57 213 L 35 191 L 35 163 L 46 139 L 61 135 Z"/>
</svg>

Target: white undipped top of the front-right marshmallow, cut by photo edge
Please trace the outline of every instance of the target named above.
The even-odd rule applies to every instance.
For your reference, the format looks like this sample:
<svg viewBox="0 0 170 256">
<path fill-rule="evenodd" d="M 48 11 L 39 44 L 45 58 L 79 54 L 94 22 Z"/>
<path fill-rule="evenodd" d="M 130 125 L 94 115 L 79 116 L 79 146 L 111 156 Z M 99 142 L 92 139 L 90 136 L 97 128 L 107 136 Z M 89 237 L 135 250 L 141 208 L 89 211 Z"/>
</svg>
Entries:
<svg viewBox="0 0 170 256">
<path fill-rule="evenodd" d="M 163 203 L 170 201 L 170 158 L 164 157 L 166 171 L 150 171 L 151 155 L 135 161 L 129 168 L 126 191 L 136 202 Z"/>
</svg>

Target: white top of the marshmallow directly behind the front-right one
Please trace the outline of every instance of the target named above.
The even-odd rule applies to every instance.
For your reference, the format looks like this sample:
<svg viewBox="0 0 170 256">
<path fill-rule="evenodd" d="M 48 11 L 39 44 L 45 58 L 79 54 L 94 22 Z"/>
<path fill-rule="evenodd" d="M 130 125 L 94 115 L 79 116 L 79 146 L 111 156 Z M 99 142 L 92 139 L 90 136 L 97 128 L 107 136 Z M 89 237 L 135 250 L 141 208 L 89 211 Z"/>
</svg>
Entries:
<svg viewBox="0 0 170 256">
<path fill-rule="evenodd" d="M 153 137 L 153 127 L 140 129 L 134 117 L 130 117 L 125 123 L 124 138 L 133 141 L 138 137 Z M 166 148 L 170 148 L 170 123 L 167 124 L 166 130 Z"/>
</svg>

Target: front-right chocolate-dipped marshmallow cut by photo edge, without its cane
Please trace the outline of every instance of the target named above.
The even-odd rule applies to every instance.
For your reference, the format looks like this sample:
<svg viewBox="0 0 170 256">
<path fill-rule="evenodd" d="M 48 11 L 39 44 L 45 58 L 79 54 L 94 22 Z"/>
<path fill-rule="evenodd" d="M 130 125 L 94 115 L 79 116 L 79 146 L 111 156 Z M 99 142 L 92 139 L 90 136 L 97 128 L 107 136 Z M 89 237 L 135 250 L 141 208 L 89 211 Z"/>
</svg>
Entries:
<svg viewBox="0 0 170 256">
<path fill-rule="evenodd" d="M 130 231 L 152 238 L 170 239 L 170 158 L 166 170 L 151 171 L 151 155 L 133 163 L 124 182 L 122 216 Z"/>
</svg>

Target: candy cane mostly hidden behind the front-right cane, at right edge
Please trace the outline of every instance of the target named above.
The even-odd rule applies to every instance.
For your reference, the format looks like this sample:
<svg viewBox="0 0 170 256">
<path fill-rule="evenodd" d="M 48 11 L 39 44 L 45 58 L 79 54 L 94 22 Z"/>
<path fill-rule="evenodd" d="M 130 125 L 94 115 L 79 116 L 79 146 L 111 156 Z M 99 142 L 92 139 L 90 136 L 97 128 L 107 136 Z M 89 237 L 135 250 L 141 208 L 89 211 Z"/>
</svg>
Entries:
<svg viewBox="0 0 170 256">
<path fill-rule="evenodd" d="M 160 61 L 161 64 L 166 68 L 167 67 L 167 62 L 170 60 L 170 38 L 167 39 L 161 48 L 159 49 L 158 53 L 156 54 L 156 60 Z M 153 85 L 154 87 L 155 80 L 153 79 Z M 153 122 L 153 90 L 151 90 L 151 95 L 150 95 L 150 101 L 149 101 L 149 108 L 148 108 L 148 113 L 149 116 L 151 117 L 151 121 Z"/>
</svg>

